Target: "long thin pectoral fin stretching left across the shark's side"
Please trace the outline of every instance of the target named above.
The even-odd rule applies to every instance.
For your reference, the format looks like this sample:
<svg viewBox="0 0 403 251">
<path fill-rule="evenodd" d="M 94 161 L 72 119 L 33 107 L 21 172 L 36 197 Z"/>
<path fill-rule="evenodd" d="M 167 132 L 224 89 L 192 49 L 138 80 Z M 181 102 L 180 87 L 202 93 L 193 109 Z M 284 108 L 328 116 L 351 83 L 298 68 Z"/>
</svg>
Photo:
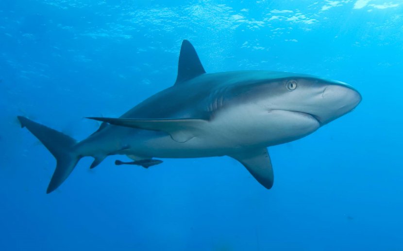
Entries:
<svg viewBox="0 0 403 251">
<path fill-rule="evenodd" d="M 168 133 L 174 141 L 186 142 L 195 137 L 195 131 L 202 124 L 207 123 L 203 119 L 123 119 L 90 117 L 115 126 L 126 126 L 138 129 L 163 131 Z"/>
</svg>

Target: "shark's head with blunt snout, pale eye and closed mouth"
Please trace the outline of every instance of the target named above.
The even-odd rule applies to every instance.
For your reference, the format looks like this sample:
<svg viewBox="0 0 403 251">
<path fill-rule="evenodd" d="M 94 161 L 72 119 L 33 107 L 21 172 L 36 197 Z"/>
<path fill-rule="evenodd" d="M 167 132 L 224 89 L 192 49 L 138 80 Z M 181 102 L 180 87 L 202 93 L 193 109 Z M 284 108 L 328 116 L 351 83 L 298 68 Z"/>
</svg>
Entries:
<svg viewBox="0 0 403 251">
<path fill-rule="evenodd" d="M 361 102 L 361 95 L 346 83 L 283 72 L 252 73 L 235 84 L 231 96 L 248 104 L 246 116 L 258 114 L 254 123 L 265 126 L 270 145 L 302 138 Z"/>
</svg>

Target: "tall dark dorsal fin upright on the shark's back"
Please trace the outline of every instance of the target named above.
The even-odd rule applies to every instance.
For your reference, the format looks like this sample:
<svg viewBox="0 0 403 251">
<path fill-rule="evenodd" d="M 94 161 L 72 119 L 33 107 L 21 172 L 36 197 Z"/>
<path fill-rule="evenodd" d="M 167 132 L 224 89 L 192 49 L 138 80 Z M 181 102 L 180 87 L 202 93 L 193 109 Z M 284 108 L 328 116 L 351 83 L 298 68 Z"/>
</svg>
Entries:
<svg viewBox="0 0 403 251">
<path fill-rule="evenodd" d="M 182 42 L 181 52 L 179 54 L 178 76 L 176 77 L 175 84 L 196 78 L 204 73 L 206 73 L 206 71 L 203 65 L 201 65 L 195 48 L 185 39 Z"/>
</svg>

